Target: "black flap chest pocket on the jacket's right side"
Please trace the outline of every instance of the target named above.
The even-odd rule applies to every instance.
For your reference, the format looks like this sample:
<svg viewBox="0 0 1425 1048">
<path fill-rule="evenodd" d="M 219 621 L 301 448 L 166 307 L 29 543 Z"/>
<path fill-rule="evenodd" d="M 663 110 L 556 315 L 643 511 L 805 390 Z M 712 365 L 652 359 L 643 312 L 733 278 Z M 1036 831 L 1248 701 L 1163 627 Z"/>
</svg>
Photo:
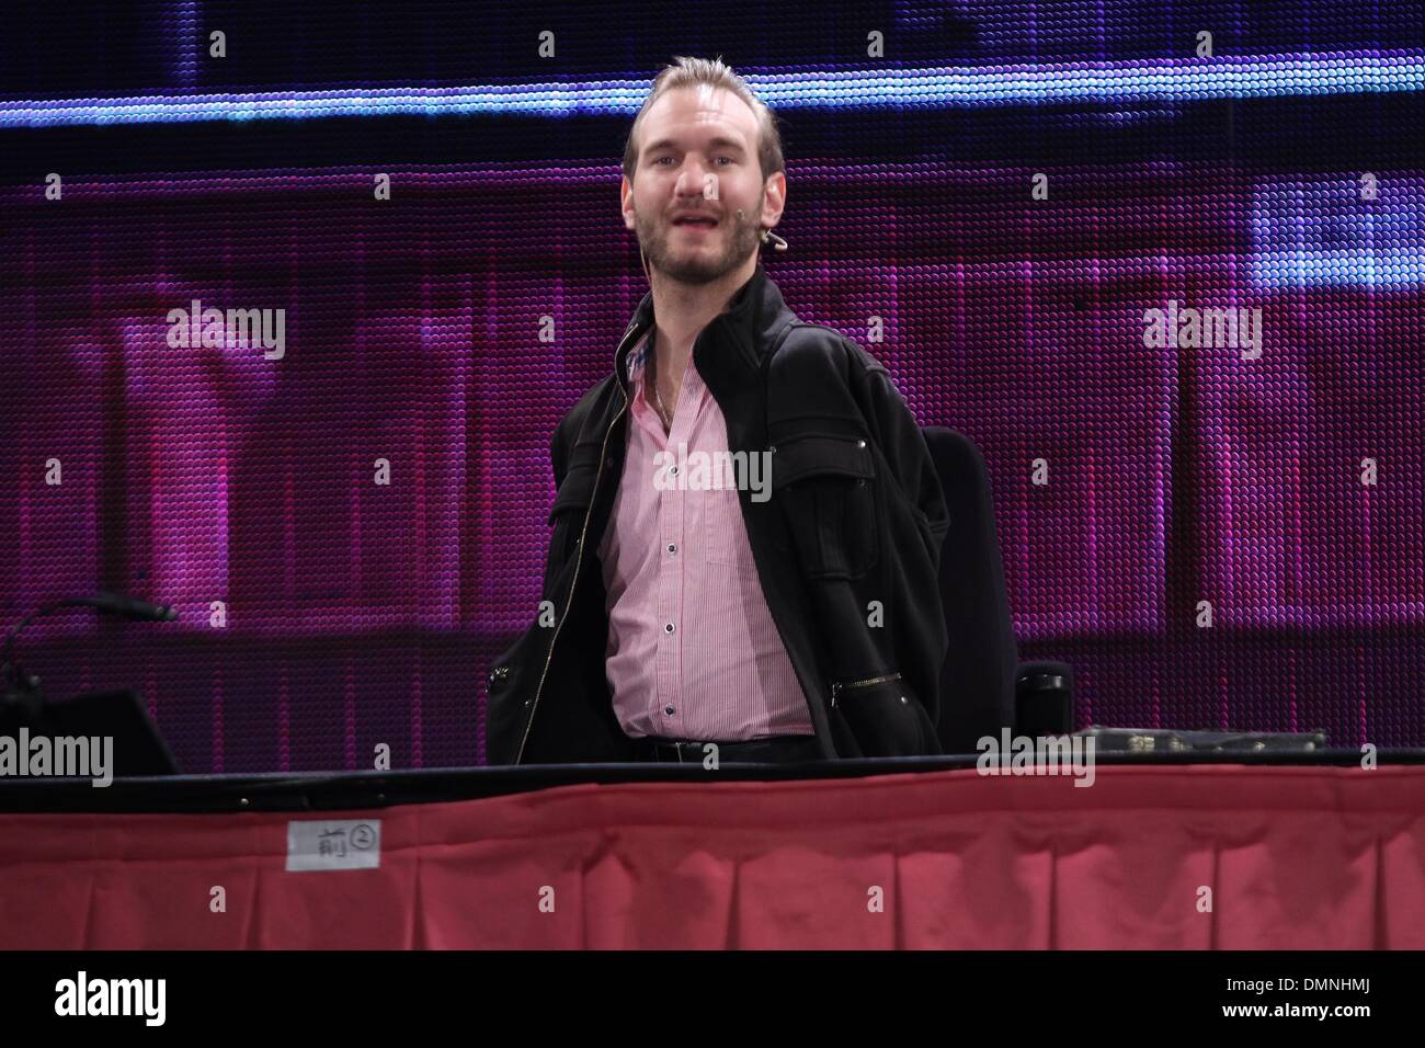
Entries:
<svg viewBox="0 0 1425 1048">
<path fill-rule="evenodd" d="M 858 436 L 794 436 L 772 446 L 772 498 L 808 579 L 855 579 L 881 558 L 871 446 Z"/>
</svg>

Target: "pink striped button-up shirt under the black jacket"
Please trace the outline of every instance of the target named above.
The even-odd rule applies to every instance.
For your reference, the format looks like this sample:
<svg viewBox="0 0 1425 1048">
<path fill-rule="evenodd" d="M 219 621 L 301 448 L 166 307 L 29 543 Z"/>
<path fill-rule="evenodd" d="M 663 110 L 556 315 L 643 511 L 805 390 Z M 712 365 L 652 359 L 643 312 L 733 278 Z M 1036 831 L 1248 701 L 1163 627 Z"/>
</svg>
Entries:
<svg viewBox="0 0 1425 1048">
<path fill-rule="evenodd" d="M 628 448 L 598 545 L 614 714 L 636 739 L 814 734 L 762 596 L 737 492 L 654 483 L 658 452 L 677 456 L 680 443 L 690 455 L 728 448 L 727 422 L 691 358 L 671 432 L 663 432 L 644 399 L 648 345 L 630 356 Z"/>
</svg>

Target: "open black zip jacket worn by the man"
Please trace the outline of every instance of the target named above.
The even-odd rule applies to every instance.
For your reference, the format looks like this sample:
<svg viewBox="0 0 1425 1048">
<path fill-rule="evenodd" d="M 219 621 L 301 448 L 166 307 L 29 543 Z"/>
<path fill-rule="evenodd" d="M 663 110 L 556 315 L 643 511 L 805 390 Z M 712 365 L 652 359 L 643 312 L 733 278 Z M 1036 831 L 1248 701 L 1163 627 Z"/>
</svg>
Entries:
<svg viewBox="0 0 1425 1048">
<path fill-rule="evenodd" d="M 627 361 L 653 324 L 644 295 L 613 374 L 554 431 L 557 495 L 544 615 L 489 676 L 492 764 L 633 760 L 613 711 L 598 542 L 627 446 Z M 770 451 L 771 498 L 738 502 L 772 620 L 825 757 L 940 753 L 949 526 L 915 418 L 886 369 L 839 332 L 804 324 L 758 265 L 697 337 L 693 361 L 732 452 Z"/>
</svg>

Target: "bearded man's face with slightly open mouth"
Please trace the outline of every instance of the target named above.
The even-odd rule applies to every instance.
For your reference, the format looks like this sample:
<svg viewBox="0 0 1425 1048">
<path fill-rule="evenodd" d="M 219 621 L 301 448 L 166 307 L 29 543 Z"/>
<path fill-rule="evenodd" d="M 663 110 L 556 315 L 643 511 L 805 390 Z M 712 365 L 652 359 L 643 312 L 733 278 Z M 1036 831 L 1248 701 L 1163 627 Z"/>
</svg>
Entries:
<svg viewBox="0 0 1425 1048">
<path fill-rule="evenodd" d="M 648 265 L 683 284 L 708 284 L 745 262 L 764 221 L 774 225 L 781 217 L 785 185 L 778 173 L 764 187 L 751 107 L 705 84 L 674 88 L 644 114 L 638 138 L 623 207 L 626 220 L 633 211 Z"/>
</svg>

